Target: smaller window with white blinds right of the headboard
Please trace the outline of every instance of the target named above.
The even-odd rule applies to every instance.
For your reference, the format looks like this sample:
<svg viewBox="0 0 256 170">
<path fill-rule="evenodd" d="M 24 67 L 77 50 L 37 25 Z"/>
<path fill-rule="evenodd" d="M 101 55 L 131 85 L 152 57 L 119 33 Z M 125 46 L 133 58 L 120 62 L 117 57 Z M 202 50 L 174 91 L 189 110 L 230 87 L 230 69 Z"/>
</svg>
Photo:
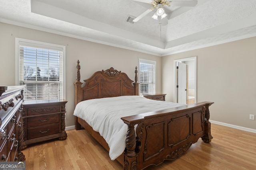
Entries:
<svg viewBox="0 0 256 170">
<path fill-rule="evenodd" d="M 156 92 L 156 61 L 139 59 L 140 95 Z"/>
</svg>

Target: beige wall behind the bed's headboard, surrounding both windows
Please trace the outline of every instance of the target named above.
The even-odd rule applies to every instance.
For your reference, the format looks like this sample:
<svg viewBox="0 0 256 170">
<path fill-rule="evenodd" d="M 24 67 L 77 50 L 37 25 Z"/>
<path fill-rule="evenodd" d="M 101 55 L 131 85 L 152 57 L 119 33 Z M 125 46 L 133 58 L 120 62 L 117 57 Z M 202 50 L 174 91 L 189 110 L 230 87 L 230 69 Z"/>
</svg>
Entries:
<svg viewBox="0 0 256 170">
<path fill-rule="evenodd" d="M 15 37 L 66 46 L 66 127 L 74 125 L 74 82 L 80 60 L 81 82 L 98 70 L 114 67 L 134 80 L 138 59 L 156 61 L 156 91 L 161 92 L 161 57 L 0 22 L 0 86 L 15 85 Z"/>
</svg>

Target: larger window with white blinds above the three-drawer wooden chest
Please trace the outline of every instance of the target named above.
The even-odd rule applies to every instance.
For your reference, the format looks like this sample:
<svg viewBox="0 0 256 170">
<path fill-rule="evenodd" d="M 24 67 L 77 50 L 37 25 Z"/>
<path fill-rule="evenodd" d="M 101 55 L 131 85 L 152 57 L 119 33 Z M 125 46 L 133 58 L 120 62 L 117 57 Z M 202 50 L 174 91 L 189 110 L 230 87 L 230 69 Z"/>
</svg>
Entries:
<svg viewBox="0 0 256 170">
<path fill-rule="evenodd" d="M 65 46 L 16 38 L 16 64 L 24 100 L 65 98 Z"/>
</svg>

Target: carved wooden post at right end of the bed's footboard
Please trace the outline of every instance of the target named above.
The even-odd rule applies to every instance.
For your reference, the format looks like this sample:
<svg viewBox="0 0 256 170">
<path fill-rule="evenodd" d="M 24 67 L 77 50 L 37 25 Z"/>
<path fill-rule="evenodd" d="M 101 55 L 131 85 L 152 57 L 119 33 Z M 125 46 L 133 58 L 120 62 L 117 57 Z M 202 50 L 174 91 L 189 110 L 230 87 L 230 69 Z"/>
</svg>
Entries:
<svg viewBox="0 0 256 170">
<path fill-rule="evenodd" d="M 212 103 L 211 103 L 212 104 Z M 204 120 L 204 136 L 202 136 L 202 140 L 205 143 L 209 143 L 210 141 L 212 141 L 212 135 L 211 135 L 211 123 L 209 121 L 210 119 L 210 111 L 209 111 L 209 106 L 211 106 L 211 104 L 204 106 L 205 109 L 205 120 Z"/>
</svg>

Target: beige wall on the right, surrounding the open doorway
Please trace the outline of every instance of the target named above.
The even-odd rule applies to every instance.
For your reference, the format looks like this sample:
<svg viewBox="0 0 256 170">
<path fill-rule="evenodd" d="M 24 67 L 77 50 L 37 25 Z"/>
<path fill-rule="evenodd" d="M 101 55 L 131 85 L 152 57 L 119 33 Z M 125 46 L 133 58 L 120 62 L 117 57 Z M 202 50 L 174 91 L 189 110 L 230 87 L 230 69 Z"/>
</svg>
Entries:
<svg viewBox="0 0 256 170">
<path fill-rule="evenodd" d="M 256 129 L 256 37 L 162 57 L 162 92 L 173 101 L 174 60 L 197 56 L 197 102 L 214 102 L 210 119 Z"/>
</svg>

